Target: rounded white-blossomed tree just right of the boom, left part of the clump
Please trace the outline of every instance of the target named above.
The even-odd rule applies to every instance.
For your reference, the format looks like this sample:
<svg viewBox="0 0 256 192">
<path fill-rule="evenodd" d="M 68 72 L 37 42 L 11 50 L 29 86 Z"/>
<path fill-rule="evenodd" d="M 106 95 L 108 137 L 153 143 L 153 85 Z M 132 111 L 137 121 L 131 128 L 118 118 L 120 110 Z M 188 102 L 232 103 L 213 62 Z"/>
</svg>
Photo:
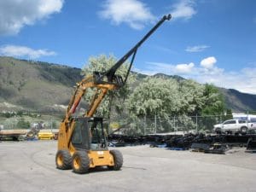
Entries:
<svg viewBox="0 0 256 192">
<path fill-rule="evenodd" d="M 148 77 L 133 91 L 127 100 L 127 108 L 137 116 L 178 113 L 182 105 L 178 87 L 174 79 Z"/>
</svg>

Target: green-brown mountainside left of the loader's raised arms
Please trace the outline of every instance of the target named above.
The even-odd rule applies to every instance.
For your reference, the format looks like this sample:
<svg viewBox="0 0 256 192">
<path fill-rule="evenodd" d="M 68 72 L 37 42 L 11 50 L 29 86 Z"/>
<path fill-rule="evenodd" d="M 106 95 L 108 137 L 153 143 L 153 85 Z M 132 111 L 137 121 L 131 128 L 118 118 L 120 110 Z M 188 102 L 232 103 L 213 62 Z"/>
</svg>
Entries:
<svg viewBox="0 0 256 192">
<path fill-rule="evenodd" d="M 51 111 L 67 105 L 81 69 L 0 57 L 0 108 Z"/>
</svg>

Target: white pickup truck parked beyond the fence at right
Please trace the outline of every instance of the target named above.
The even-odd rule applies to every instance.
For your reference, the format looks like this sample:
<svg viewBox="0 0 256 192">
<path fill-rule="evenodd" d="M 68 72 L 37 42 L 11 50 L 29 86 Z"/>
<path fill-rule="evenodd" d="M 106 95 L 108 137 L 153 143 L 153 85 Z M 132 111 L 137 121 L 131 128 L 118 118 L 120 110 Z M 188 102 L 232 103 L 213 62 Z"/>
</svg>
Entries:
<svg viewBox="0 0 256 192">
<path fill-rule="evenodd" d="M 246 120 L 241 119 L 229 119 L 225 120 L 222 124 L 213 125 L 213 131 L 216 133 L 221 132 L 240 132 L 241 134 L 246 134 L 247 131 L 256 130 L 255 123 L 247 123 Z"/>
</svg>

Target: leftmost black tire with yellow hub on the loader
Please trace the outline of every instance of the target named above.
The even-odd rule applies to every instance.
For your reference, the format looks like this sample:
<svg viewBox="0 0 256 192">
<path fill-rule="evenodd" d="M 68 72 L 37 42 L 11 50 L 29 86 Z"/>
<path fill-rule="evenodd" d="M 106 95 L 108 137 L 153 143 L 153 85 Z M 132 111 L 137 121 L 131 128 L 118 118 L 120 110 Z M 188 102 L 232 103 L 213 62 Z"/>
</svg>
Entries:
<svg viewBox="0 0 256 192">
<path fill-rule="evenodd" d="M 68 150 L 58 150 L 55 156 L 57 169 L 71 169 L 71 155 Z"/>
</svg>

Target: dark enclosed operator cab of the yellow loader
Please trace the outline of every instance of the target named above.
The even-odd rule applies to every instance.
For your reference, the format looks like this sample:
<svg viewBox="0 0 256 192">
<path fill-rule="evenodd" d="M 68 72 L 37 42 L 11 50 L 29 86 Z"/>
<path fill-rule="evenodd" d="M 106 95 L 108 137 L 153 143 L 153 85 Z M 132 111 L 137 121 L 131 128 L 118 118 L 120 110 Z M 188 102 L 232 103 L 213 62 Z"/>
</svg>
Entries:
<svg viewBox="0 0 256 192">
<path fill-rule="evenodd" d="M 102 118 L 78 117 L 73 120 L 75 125 L 71 142 L 74 148 L 77 150 L 104 150 L 108 148 Z"/>
</svg>

